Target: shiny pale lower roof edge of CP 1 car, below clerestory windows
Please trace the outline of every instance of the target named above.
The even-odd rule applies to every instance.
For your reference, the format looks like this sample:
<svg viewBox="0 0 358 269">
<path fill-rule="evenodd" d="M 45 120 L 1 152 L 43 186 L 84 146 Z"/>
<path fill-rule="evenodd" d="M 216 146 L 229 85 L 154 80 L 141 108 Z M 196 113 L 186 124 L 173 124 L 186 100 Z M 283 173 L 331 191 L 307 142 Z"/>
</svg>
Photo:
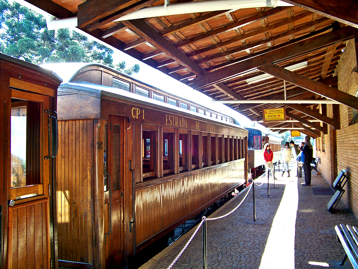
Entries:
<svg viewBox="0 0 358 269">
<path fill-rule="evenodd" d="M 197 112 L 193 112 L 191 110 L 183 109 L 180 107 L 176 107 L 171 104 L 167 104 L 164 102 L 160 102 L 145 96 L 141 96 L 135 93 L 131 93 L 126 90 L 118 89 L 118 88 L 112 88 L 108 86 L 103 85 L 97 85 L 97 84 L 90 84 L 90 83 L 79 83 L 79 82 L 65 82 L 61 83 L 61 85 L 58 87 L 58 95 L 65 95 L 65 94 L 83 94 L 83 95 L 89 95 L 94 96 L 97 98 L 102 98 L 103 96 L 110 96 L 114 98 L 118 98 L 121 100 L 128 100 L 131 102 L 144 104 L 144 105 L 150 105 L 154 107 L 162 107 L 165 108 L 168 111 L 171 111 L 173 113 L 180 112 L 182 114 L 186 114 L 190 117 L 197 117 L 201 118 L 207 121 L 213 121 L 217 124 L 227 125 L 231 126 L 237 129 L 241 129 L 242 131 L 245 131 L 247 133 L 247 129 L 241 127 L 240 125 L 230 123 L 230 122 L 224 122 L 216 118 L 209 117 L 207 115 L 203 115 Z"/>
</svg>

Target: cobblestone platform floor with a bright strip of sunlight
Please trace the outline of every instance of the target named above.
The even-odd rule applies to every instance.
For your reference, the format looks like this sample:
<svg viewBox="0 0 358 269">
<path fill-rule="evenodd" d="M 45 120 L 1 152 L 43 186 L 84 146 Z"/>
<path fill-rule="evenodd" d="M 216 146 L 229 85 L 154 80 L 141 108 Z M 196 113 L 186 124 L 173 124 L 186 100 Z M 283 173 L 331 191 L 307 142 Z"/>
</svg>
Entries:
<svg viewBox="0 0 358 269">
<path fill-rule="evenodd" d="M 334 214 L 327 211 L 332 195 L 314 195 L 312 188 L 329 188 L 323 176 L 312 172 L 312 185 L 302 186 L 296 178 L 296 163 L 290 164 L 291 177 L 255 180 L 256 219 L 253 223 L 252 191 L 242 205 L 229 216 L 207 221 L 208 268 L 352 268 L 337 241 L 334 226 L 339 223 L 358 226 L 358 221 L 340 202 Z M 281 170 L 282 171 L 282 170 Z M 222 216 L 235 208 L 245 193 L 237 195 L 210 217 Z M 345 195 L 345 194 L 344 194 Z M 192 230 L 194 232 L 195 229 Z M 140 269 L 166 269 L 192 236 L 187 233 Z M 172 268 L 203 268 L 202 228 Z"/>
</svg>

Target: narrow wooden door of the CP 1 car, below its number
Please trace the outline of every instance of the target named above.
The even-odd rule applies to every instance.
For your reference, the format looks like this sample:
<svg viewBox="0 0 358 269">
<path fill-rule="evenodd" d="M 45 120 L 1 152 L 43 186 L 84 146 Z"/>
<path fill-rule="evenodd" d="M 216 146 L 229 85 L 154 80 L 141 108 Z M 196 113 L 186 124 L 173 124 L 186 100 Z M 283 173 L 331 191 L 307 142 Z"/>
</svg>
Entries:
<svg viewBox="0 0 358 269">
<path fill-rule="evenodd" d="M 124 118 L 110 115 L 107 127 L 106 268 L 124 265 Z M 106 184 L 106 183 L 105 183 Z M 106 227 L 105 226 L 105 227 Z"/>
</svg>

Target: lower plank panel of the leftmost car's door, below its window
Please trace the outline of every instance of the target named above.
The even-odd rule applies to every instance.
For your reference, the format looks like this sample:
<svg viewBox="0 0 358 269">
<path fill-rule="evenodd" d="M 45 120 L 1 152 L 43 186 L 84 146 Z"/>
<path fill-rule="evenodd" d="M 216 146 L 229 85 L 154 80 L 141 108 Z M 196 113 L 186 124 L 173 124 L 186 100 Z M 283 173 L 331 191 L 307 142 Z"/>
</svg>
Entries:
<svg viewBox="0 0 358 269">
<path fill-rule="evenodd" d="M 48 198 L 9 207 L 9 267 L 50 268 Z"/>
</svg>

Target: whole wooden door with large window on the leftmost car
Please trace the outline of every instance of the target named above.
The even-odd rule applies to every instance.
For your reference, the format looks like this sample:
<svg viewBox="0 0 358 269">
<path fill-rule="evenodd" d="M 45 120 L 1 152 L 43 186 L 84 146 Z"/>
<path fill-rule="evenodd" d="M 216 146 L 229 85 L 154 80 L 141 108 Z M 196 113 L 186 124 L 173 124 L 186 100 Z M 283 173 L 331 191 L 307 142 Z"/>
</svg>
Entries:
<svg viewBox="0 0 358 269">
<path fill-rule="evenodd" d="M 48 96 L 11 90 L 11 114 L 6 117 L 10 155 L 4 171 L 8 186 L 4 188 L 8 199 L 4 269 L 51 266 L 48 109 Z"/>
</svg>

